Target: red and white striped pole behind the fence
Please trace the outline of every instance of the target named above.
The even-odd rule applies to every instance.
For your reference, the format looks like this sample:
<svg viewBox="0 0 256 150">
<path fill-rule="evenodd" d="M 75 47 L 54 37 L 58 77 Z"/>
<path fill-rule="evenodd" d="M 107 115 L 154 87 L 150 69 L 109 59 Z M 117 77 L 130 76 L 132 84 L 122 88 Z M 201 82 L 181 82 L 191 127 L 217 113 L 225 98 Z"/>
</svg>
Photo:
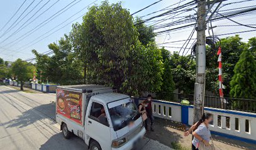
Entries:
<svg viewBox="0 0 256 150">
<path fill-rule="evenodd" d="M 222 64 L 221 64 L 221 47 L 218 48 L 218 69 L 219 69 L 219 74 L 218 74 L 218 79 L 219 79 L 219 92 L 220 92 L 220 98 L 221 98 L 221 108 L 223 108 L 223 103 L 224 103 L 224 94 L 223 94 L 223 87 L 222 87 Z"/>
</svg>

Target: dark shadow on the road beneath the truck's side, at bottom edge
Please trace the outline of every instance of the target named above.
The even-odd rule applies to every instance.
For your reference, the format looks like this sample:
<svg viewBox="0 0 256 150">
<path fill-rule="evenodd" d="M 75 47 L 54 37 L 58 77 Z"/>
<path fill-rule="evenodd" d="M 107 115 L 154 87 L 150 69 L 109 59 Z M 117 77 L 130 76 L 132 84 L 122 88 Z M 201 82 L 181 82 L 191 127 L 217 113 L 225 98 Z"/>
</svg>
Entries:
<svg viewBox="0 0 256 150">
<path fill-rule="evenodd" d="M 83 142 L 83 139 L 77 136 L 72 136 L 70 139 L 63 138 L 62 133 L 55 134 L 41 145 L 40 150 L 69 150 L 69 149 L 81 149 L 87 150 L 87 145 Z"/>
</svg>

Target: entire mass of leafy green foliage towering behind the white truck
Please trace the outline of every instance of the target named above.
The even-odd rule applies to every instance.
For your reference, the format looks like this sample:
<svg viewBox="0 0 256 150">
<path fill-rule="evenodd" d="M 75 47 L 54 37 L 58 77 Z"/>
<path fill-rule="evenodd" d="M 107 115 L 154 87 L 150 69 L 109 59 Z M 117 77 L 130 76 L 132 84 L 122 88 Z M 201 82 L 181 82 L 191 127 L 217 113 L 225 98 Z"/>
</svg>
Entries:
<svg viewBox="0 0 256 150">
<path fill-rule="evenodd" d="M 142 28 L 147 32 L 140 32 Z M 90 7 L 82 24 L 73 24 L 70 32 L 87 83 L 107 84 L 132 94 L 159 91 L 163 61 L 149 28 L 144 24 L 135 27 L 130 12 L 120 2 L 104 1 Z"/>
</svg>

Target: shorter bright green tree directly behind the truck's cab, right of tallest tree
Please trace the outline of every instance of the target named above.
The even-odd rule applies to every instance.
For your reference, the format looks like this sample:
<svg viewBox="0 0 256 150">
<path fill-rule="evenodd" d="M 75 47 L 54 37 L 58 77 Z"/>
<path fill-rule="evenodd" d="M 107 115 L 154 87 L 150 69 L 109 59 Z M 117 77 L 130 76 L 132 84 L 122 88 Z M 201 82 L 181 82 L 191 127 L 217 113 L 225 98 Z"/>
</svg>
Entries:
<svg viewBox="0 0 256 150">
<path fill-rule="evenodd" d="M 128 59 L 128 71 L 122 83 L 122 91 L 139 96 L 142 91 L 161 91 L 163 59 L 155 43 L 143 46 L 134 44 Z"/>
</svg>

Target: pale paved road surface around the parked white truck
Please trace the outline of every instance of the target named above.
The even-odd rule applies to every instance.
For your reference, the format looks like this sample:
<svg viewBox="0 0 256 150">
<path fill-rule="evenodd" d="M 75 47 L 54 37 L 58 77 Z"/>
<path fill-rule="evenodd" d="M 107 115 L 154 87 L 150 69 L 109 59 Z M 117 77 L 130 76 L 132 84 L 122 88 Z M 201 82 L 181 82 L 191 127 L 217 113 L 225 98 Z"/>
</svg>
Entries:
<svg viewBox="0 0 256 150">
<path fill-rule="evenodd" d="M 82 139 L 63 138 L 55 122 L 55 94 L 23 93 L 0 86 L 0 149 L 83 149 Z M 171 149 L 144 139 L 142 150 Z"/>
</svg>

